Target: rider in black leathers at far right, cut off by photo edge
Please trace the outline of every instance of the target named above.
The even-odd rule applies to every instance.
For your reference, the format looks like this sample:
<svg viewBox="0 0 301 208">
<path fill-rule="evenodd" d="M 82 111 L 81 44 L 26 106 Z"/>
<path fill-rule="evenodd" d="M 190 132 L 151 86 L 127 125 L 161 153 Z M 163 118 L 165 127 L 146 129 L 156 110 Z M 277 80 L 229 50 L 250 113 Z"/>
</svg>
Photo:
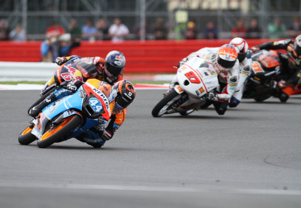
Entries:
<svg viewBox="0 0 301 208">
<path fill-rule="evenodd" d="M 251 48 L 253 52 L 263 49 L 285 49 L 287 52 L 287 54 L 278 52 L 282 67 L 289 75 L 286 80 L 281 80 L 277 83 L 278 87 L 281 89 L 279 99 L 280 101 L 285 102 L 291 95 L 293 87 L 301 78 L 301 35 L 298 35 L 294 41 L 286 39 L 275 42 L 266 42 Z"/>
</svg>

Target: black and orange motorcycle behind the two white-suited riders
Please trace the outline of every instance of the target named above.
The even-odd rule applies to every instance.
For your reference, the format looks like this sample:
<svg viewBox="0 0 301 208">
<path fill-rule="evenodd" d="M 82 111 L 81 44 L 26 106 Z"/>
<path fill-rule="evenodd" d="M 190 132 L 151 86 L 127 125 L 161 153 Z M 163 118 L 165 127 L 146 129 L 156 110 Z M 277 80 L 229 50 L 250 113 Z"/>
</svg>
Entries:
<svg viewBox="0 0 301 208">
<path fill-rule="evenodd" d="M 271 96 L 278 97 L 277 82 L 286 79 L 279 55 L 274 50 L 260 50 L 252 54 L 252 69 L 242 98 L 263 101 Z"/>
</svg>

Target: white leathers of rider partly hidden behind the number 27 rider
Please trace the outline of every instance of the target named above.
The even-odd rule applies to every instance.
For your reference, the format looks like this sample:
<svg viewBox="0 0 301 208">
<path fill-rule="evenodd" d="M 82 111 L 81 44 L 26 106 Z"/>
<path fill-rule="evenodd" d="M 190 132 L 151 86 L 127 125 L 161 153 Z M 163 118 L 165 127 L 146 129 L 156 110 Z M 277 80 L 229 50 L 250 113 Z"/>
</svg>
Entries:
<svg viewBox="0 0 301 208">
<path fill-rule="evenodd" d="M 252 65 L 251 51 L 248 50 L 246 58 L 239 63 L 239 80 L 229 102 L 230 108 L 236 107 L 242 98 L 244 87 L 251 74 L 251 65 Z"/>
</svg>

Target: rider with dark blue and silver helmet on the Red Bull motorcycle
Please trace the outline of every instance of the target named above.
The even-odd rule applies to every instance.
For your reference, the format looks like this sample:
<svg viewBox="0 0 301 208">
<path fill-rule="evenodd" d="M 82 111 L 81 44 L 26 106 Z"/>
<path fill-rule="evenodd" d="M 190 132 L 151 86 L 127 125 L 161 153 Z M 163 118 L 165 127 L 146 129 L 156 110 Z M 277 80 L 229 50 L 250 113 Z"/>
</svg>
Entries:
<svg viewBox="0 0 301 208">
<path fill-rule="evenodd" d="M 82 72 L 81 69 L 78 69 L 82 74 L 86 74 L 87 77 L 85 77 L 84 81 L 91 78 L 97 78 L 109 84 L 113 84 L 123 79 L 122 70 L 125 66 L 125 57 L 119 51 L 110 51 L 105 58 L 99 56 L 80 57 L 77 55 L 57 57 L 55 63 L 61 66 L 69 61 L 68 63 L 72 64 L 82 58 L 87 61 L 92 61 L 96 66 L 95 73 L 86 74 L 85 72 Z"/>
</svg>

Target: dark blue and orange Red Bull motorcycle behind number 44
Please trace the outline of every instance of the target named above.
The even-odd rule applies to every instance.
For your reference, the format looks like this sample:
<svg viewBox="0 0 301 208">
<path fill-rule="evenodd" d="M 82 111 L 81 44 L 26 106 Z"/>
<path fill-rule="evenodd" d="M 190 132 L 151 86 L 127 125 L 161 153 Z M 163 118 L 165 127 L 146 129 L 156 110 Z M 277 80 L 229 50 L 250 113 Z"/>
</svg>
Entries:
<svg viewBox="0 0 301 208">
<path fill-rule="evenodd" d="M 93 78 L 97 74 L 96 66 L 92 61 L 86 58 L 79 58 L 78 60 L 69 60 L 66 63 L 59 66 L 53 76 L 46 82 L 40 93 L 40 98 L 33 103 L 33 105 L 28 109 L 29 111 L 37 106 L 41 101 L 43 101 L 48 95 L 50 95 L 57 86 L 59 86 L 64 81 L 70 80 L 80 80 L 86 81 L 88 78 Z"/>
</svg>

